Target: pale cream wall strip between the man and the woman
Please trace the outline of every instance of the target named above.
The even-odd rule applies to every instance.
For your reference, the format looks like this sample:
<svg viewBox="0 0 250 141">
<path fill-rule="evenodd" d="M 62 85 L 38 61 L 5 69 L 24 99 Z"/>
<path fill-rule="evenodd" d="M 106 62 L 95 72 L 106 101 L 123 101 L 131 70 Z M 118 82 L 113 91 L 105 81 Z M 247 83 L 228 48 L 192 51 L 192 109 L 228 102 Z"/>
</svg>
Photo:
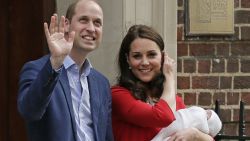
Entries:
<svg viewBox="0 0 250 141">
<path fill-rule="evenodd" d="M 92 65 L 110 80 L 116 81 L 116 58 L 123 38 L 122 0 L 100 0 L 104 13 L 104 31 L 101 46 L 89 55 Z"/>
</svg>

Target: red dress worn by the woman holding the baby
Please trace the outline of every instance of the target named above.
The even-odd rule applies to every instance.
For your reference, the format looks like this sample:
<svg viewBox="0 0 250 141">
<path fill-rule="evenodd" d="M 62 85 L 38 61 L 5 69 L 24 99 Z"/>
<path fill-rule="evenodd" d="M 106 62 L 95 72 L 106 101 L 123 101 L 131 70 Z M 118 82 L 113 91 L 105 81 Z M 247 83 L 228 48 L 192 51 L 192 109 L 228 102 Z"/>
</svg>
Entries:
<svg viewBox="0 0 250 141">
<path fill-rule="evenodd" d="M 182 99 L 176 97 L 176 110 L 185 108 Z M 160 99 L 151 106 L 136 100 L 129 90 L 112 88 L 112 124 L 115 141 L 150 141 L 175 120 L 167 102 Z"/>
</svg>

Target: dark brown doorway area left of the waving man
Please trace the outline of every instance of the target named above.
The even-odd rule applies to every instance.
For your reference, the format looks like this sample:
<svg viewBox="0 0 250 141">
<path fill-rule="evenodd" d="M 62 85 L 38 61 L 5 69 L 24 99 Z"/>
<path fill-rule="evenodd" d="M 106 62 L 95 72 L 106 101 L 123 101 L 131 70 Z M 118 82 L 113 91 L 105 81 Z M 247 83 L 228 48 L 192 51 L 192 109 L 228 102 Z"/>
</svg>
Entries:
<svg viewBox="0 0 250 141">
<path fill-rule="evenodd" d="M 19 71 L 46 53 L 43 22 L 55 12 L 55 0 L 5 0 L 0 5 L 0 141 L 27 141 L 17 112 Z"/>
</svg>

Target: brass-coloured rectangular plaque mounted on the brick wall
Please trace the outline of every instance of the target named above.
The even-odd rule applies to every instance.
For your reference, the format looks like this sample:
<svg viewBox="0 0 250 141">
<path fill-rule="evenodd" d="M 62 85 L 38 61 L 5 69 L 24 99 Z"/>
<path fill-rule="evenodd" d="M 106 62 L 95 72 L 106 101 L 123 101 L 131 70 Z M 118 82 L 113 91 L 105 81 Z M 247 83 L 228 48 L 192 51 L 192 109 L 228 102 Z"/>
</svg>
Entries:
<svg viewBox="0 0 250 141">
<path fill-rule="evenodd" d="M 187 0 L 187 35 L 234 33 L 234 0 Z"/>
</svg>

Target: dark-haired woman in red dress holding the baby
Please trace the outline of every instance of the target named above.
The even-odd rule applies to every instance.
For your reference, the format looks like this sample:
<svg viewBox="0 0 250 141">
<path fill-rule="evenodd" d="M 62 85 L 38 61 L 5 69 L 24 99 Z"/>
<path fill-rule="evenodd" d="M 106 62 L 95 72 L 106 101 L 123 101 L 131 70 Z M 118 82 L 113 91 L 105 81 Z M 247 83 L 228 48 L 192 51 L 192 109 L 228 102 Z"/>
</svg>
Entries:
<svg viewBox="0 0 250 141">
<path fill-rule="evenodd" d="M 150 141 L 185 108 L 175 91 L 175 62 L 164 51 L 162 37 L 145 25 L 132 26 L 118 56 L 118 83 L 112 87 L 115 141 Z M 209 141 L 196 128 L 176 132 L 169 141 Z"/>
</svg>

